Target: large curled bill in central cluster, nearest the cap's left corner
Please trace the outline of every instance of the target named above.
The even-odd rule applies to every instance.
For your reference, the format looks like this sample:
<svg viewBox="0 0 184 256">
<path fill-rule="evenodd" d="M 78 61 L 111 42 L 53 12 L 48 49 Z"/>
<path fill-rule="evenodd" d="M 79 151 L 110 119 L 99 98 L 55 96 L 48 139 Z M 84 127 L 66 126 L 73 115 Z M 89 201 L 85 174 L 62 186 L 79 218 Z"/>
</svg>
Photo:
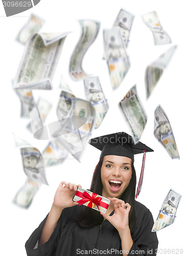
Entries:
<svg viewBox="0 0 184 256">
<path fill-rule="evenodd" d="M 73 98 L 69 116 L 48 125 L 48 129 L 53 139 L 80 161 L 95 125 L 95 109 L 89 101 Z"/>
</svg>

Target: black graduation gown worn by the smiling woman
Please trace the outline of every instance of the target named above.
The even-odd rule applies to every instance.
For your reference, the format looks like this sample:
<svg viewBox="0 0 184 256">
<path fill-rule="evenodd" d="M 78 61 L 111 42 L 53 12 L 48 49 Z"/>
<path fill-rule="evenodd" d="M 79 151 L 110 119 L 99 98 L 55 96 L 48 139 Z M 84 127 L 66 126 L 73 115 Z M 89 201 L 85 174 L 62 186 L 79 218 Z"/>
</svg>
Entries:
<svg viewBox="0 0 184 256">
<path fill-rule="evenodd" d="M 80 227 L 75 223 L 82 207 L 86 206 L 65 208 L 50 239 L 41 246 L 35 246 L 40 238 L 46 217 L 26 242 L 27 255 L 122 255 L 118 253 L 121 250 L 119 233 L 116 230 L 114 231 L 114 227 L 109 221 L 105 220 L 101 227 L 97 225 L 88 228 Z M 143 204 L 136 201 L 134 209 L 136 223 L 131 234 L 133 245 L 128 255 L 156 255 L 155 250 L 158 246 L 158 240 L 156 232 L 151 232 L 153 226 L 152 214 Z M 112 214 L 113 211 L 110 215 Z"/>
</svg>

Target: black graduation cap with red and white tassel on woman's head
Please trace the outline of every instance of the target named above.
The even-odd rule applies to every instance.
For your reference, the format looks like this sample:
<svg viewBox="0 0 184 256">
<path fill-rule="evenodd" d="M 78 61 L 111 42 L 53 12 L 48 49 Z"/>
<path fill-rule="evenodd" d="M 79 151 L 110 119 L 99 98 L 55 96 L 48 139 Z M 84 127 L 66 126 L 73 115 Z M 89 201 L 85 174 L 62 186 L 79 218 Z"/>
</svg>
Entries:
<svg viewBox="0 0 184 256">
<path fill-rule="evenodd" d="M 103 158 L 104 156 L 114 155 L 128 157 L 134 162 L 135 154 L 144 153 L 141 175 L 135 195 L 136 199 L 140 194 L 143 182 L 146 152 L 153 152 L 153 150 L 142 142 L 138 142 L 135 144 L 133 142 L 133 138 L 129 134 L 124 132 L 113 133 L 93 138 L 90 140 L 89 144 L 98 148 L 98 150 L 101 151 L 100 158 Z"/>
</svg>

